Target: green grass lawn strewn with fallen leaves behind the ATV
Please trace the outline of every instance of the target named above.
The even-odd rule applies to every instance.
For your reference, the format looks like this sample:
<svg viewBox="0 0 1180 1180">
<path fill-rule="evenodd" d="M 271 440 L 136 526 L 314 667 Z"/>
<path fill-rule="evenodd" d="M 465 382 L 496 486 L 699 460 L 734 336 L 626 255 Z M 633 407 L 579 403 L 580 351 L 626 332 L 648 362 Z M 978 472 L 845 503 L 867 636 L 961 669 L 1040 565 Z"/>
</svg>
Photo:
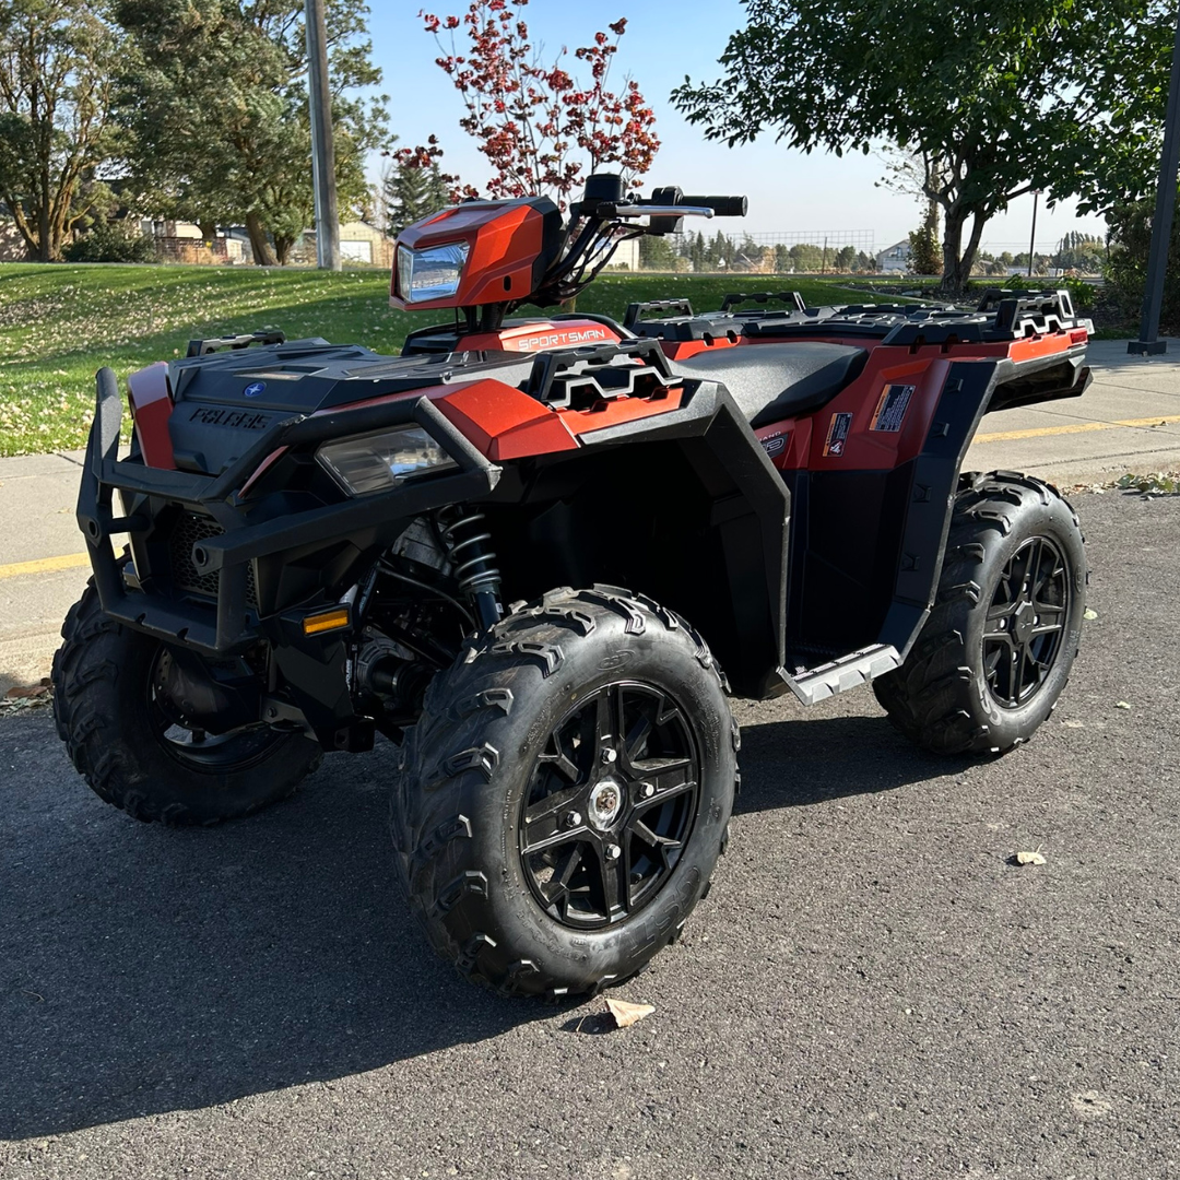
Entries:
<svg viewBox="0 0 1180 1180">
<path fill-rule="evenodd" d="M 812 304 L 870 302 L 835 278 L 611 274 L 578 297 L 578 309 L 622 317 L 636 300 L 687 297 L 712 310 L 735 289 L 799 290 Z M 278 328 L 288 340 L 396 353 L 412 328 L 446 319 L 394 312 L 384 270 L 0 263 L 0 455 L 85 446 L 94 372 L 110 365 L 122 382 L 184 355 L 192 336 Z"/>
</svg>

